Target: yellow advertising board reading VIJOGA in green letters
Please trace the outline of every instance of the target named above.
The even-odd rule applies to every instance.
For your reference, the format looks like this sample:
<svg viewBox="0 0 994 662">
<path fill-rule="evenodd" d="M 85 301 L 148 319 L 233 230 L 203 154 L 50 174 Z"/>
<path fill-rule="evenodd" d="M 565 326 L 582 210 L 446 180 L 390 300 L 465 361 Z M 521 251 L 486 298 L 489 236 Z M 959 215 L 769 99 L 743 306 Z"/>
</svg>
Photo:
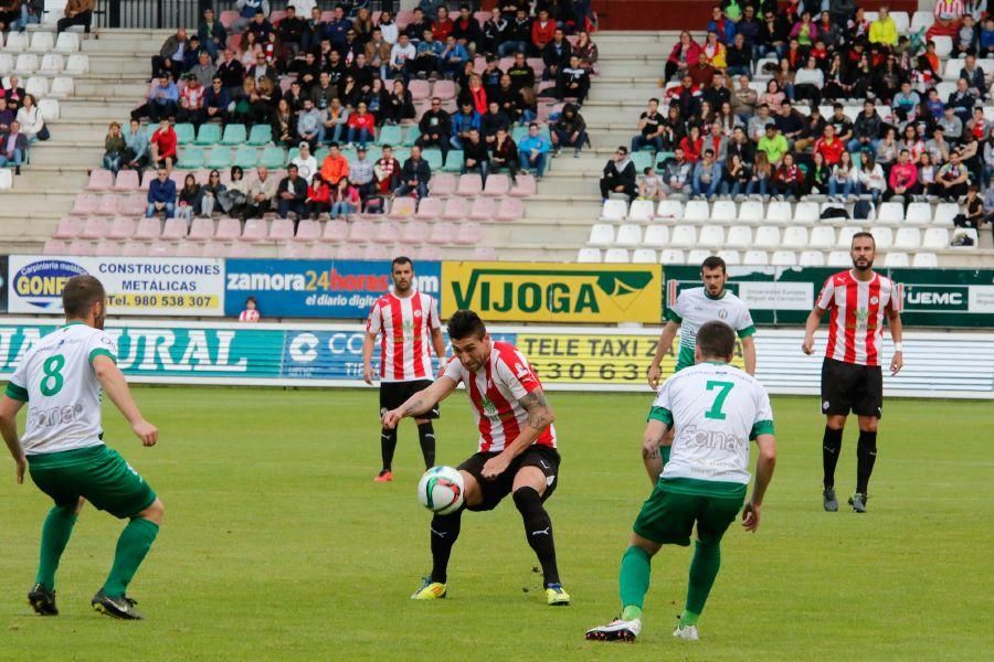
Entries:
<svg viewBox="0 0 994 662">
<path fill-rule="evenodd" d="M 659 265 L 442 263 L 445 316 L 485 322 L 659 323 Z"/>
</svg>

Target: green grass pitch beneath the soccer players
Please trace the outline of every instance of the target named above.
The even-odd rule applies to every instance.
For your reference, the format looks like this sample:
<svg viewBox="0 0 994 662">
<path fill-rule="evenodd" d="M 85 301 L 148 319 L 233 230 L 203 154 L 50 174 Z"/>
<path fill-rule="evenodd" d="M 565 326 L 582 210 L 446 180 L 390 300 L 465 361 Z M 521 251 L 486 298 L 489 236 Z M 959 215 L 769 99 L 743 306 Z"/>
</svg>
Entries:
<svg viewBox="0 0 994 662">
<path fill-rule="evenodd" d="M 648 393 L 550 394 L 563 463 L 548 505 L 574 600 L 565 609 L 544 606 L 510 500 L 465 515 L 448 599 L 408 599 L 430 568 L 420 450 L 404 421 L 398 480 L 373 484 L 376 391 L 136 394 L 159 446 L 140 448 L 109 405 L 105 428 L 166 503 L 130 590 L 147 620 L 89 608 L 120 530 L 92 509 L 63 557 L 62 615 L 31 613 L 24 596 L 49 505 L 2 460 L 0 659 L 980 660 L 994 650 L 991 403 L 888 401 L 869 513 L 856 515 L 822 512 L 815 398 L 774 398 L 779 462 L 762 525 L 726 536 L 701 641 L 670 637 L 690 551 L 666 547 L 643 638 L 624 645 L 583 632 L 618 610 L 618 560 L 651 489 L 638 451 Z M 475 450 L 462 393 L 436 431 L 440 462 Z M 855 481 L 855 436 L 843 447 L 840 498 Z"/>
</svg>

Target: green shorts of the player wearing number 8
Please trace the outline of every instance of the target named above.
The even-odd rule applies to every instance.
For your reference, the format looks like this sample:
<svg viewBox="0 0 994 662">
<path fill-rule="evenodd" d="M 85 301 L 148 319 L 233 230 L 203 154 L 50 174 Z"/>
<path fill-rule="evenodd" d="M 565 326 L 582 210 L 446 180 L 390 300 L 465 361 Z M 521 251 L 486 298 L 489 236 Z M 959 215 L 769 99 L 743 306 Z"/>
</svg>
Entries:
<svg viewBox="0 0 994 662">
<path fill-rule="evenodd" d="M 55 505 L 75 505 L 80 496 L 115 517 L 134 517 L 156 493 L 123 457 L 106 446 L 28 456 L 31 480 Z"/>
</svg>

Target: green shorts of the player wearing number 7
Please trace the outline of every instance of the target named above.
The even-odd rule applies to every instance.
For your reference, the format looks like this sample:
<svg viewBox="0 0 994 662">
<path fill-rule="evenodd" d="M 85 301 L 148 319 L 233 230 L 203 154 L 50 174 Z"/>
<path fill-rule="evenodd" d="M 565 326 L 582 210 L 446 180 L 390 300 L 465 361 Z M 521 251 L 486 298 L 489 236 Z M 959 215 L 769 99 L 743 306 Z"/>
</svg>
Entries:
<svg viewBox="0 0 994 662">
<path fill-rule="evenodd" d="M 723 491 L 728 492 L 719 496 L 695 490 L 694 484 L 699 485 L 701 482 L 704 481 L 659 479 L 635 519 L 633 531 L 662 545 L 686 547 L 690 544 L 690 534 L 697 523 L 697 536 L 702 543 L 721 541 L 742 508 L 745 485 L 717 483 L 716 488 L 726 487 Z"/>
</svg>

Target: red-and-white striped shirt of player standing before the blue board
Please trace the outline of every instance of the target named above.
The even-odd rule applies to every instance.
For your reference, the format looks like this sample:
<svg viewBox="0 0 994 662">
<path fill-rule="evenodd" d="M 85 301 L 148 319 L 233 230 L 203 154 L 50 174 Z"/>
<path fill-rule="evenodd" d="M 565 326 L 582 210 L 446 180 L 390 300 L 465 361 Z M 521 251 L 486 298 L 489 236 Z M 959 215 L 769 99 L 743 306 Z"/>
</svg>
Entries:
<svg viewBox="0 0 994 662">
<path fill-rule="evenodd" d="M 441 329 L 435 300 L 417 290 L 406 298 L 377 299 L 366 330 L 380 334 L 380 381 L 432 380 L 432 330 Z"/>
</svg>

